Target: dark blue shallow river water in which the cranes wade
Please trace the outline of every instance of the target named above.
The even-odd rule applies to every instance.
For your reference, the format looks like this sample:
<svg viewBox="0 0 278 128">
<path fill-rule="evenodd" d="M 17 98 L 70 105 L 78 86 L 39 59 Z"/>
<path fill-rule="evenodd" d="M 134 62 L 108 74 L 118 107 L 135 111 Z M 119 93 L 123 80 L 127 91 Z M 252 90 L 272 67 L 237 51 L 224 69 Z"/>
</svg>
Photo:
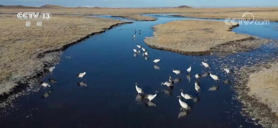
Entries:
<svg viewBox="0 0 278 128">
<path fill-rule="evenodd" d="M 151 49 L 143 39 L 152 36 L 152 26 L 192 19 L 151 16 L 158 20 L 124 24 L 63 51 L 53 75 L 48 74 L 43 79 L 57 80 L 57 83 L 51 83 L 53 90 L 49 92 L 51 88 L 41 88 L 38 92 L 15 99 L 19 107 L 10 110 L 1 108 L 1 127 L 261 127 L 240 114 L 241 104 L 234 99 L 231 84 L 222 83 L 225 79 L 232 80 L 224 74 L 223 66 L 235 69 L 253 65 L 264 58 L 277 56 L 277 47 L 270 43 L 253 51 L 226 57 L 187 56 Z M 271 22 L 271 25 L 277 26 L 277 23 Z M 140 34 L 136 33 L 136 40 L 131 37 L 134 29 L 141 30 Z M 233 31 L 262 38 L 277 37 L 277 29 L 272 26 L 239 26 Z M 136 43 L 150 53 L 148 60 L 142 52 L 134 55 L 133 47 L 138 49 Z M 161 61 L 155 65 L 152 60 L 158 57 Z M 203 68 L 203 59 L 212 68 Z M 186 69 L 190 64 L 189 82 Z M 161 86 L 161 82 L 168 81 L 169 75 L 176 78 L 172 68 L 183 73 L 178 76 L 181 81 L 174 84 L 176 87 L 169 89 Z M 84 69 L 86 75 L 82 81 L 87 87 L 78 86 L 80 79 L 76 78 L 76 74 Z M 209 76 L 199 79 L 201 91 L 197 93 L 194 75 L 208 71 L 217 74 L 221 80 L 215 83 Z M 159 91 L 153 102 L 136 94 L 136 82 L 147 94 Z M 220 88 L 209 92 L 212 85 Z M 187 101 L 192 107 L 188 112 L 181 110 L 176 97 L 180 95 L 180 89 L 194 97 L 194 100 Z M 49 96 L 41 98 L 45 92 Z M 185 99 L 181 100 L 185 102 Z"/>
</svg>

